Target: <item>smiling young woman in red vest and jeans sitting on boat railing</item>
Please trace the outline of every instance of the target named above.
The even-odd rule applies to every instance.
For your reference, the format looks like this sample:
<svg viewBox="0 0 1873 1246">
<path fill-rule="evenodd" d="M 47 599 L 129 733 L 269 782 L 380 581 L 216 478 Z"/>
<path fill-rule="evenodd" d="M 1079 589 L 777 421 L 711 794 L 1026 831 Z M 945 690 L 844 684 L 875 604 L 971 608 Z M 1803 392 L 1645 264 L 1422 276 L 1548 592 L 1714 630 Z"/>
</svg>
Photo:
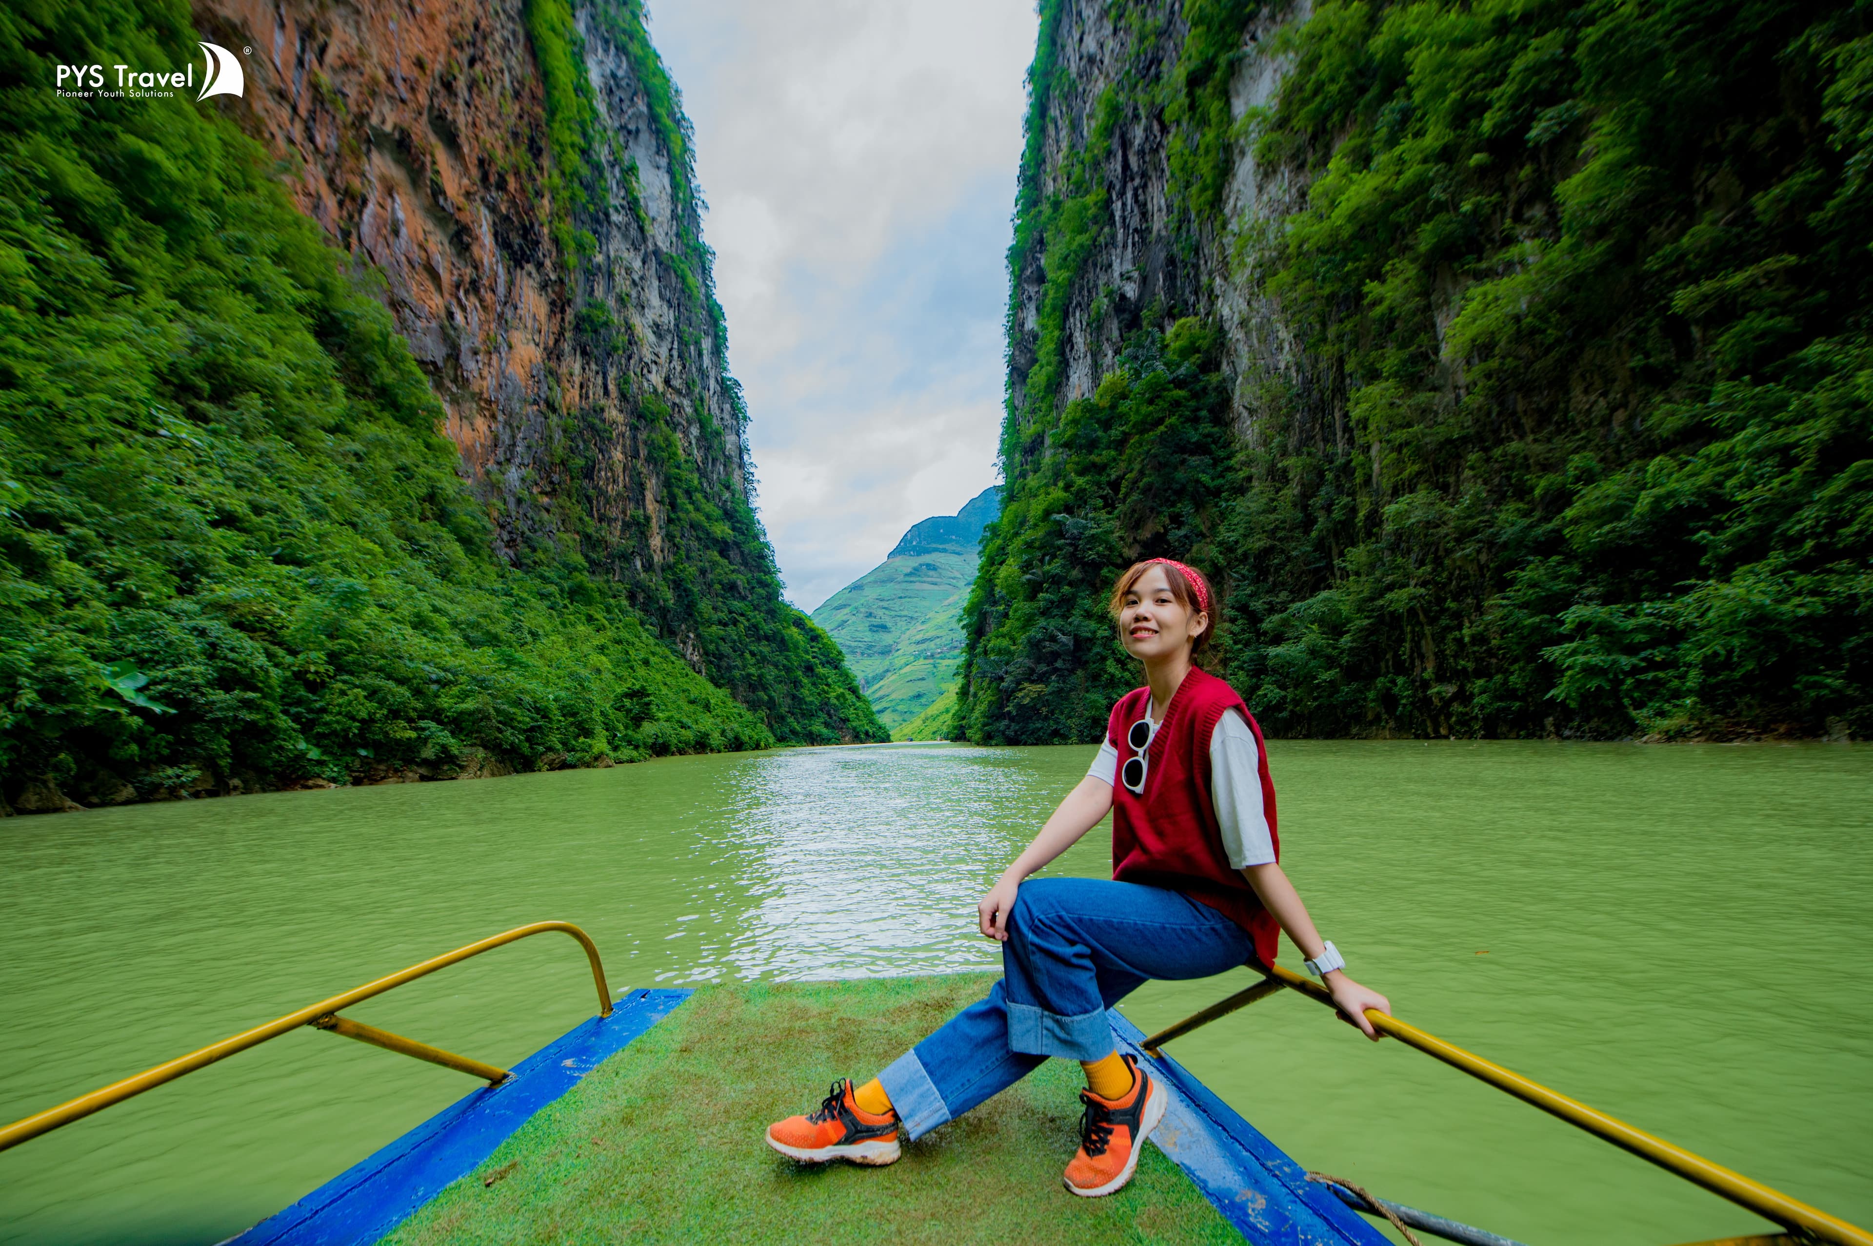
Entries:
<svg viewBox="0 0 1873 1246">
<path fill-rule="evenodd" d="M 1379 1038 L 1365 1010 L 1392 1005 L 1345 975 L 1277 864 L 1262 732 L 1227 683 L 1193 664 L 1217 623 L 1210 586 L 1154 558 L 1118 578 L 1111 610 L 1146 687 L 1113 707 L 1086 778 L 976 906 L 981 934 L 1002 941 L 1002 980 L 865 1085 L 839 1079 L 817 1111 L 770 1124 L 781 1154 L 893 1164 L 899 1128 L 920 1137 L 1064 1055 L 1086 1070 L 1066 1188 L 1113 1194 L 1167 1100 L 1118 1055 L 1105 1010 L 1150 978 L 1274 963 L 1283 930 L 1341 1012 Z M 1023 881 L 1107 812 L 1113 881 Z"/>
</svg>

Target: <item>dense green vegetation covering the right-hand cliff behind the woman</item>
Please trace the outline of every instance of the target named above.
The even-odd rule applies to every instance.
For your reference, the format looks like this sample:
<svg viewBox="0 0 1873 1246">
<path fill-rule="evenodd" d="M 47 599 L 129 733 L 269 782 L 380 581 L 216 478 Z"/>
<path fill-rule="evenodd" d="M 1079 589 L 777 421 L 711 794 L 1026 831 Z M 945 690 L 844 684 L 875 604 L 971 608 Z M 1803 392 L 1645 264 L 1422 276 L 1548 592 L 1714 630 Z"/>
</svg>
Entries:
<svg viewBox="0 0 1873 1246">
<path fill-rule="evenodd" d="M 1873 733 L 1864 7 L 1322 0 L 1232 122 L 1257 6 L 1189 0 L 1180 64 L 1099 114 L 1163 109 L 1167 241 L 1231 253 L 1294 342 L 1240 378 L 1247 428 L 1219 331 L 1176 320 L 1208 307 L 1146 309 L 1098 395 L 1054 398 L 1109 228 L 1073 204 L 1111 191 L 1098 118 L 1040 165 L 1054 7 L 970 739 L 1098 732 L 1133 681 L 1099 593 L 1152 554 L 1221 582 L 1219 670 L 1276 733 Z M 1307 187 L 1290 215 L 1223 217 L 1247 142 Z"/>
</svg>

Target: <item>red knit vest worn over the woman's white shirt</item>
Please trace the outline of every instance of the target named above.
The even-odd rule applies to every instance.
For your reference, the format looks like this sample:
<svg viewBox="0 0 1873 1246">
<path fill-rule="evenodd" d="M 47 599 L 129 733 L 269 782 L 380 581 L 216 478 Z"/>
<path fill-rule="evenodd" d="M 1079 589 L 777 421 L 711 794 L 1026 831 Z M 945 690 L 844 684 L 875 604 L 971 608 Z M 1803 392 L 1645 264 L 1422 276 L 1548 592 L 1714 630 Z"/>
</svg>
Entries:
<svg viewBox="0 0 1873 1246">
<path fill-rule="evenodd" d="M 1257 900 L 1240 870 L 1229 868 L 1223 833 L 1210 797 L 1210 735 L 1225 713 L 1236 709 L 1255 732 L 1257 771 L 1262 780 L 1262 812 L 1276 857 L 1276 786 L 1268 778 L 1268 752 L 1262 728 L 1236 690 L 1195 666 L 1184 675 L 1165 707 L 1158 735 L 1152 737 L 1144 795 L 1124 784 L 1124 765 L 1131 758 L 1126 732 L 1150 711 L 1152 690 L 1137 688 L 1118 698 L 1107 722 L 1107 739 L 1118 748 L 1120 775 L 1113 782 L 1113 877 L 1182 892 L 1236 922 L 1255 941 L 1255 956 L 1276 963 L 1281 926 Z"/>
</svg>

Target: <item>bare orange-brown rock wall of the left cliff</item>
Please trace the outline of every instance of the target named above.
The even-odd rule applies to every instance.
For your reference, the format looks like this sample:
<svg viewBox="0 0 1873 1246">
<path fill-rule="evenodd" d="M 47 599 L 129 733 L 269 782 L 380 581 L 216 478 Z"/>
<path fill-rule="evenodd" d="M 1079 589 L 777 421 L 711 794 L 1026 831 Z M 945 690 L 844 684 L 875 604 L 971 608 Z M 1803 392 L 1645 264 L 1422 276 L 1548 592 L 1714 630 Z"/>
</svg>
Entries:
<svg viewBox="0 0 1873 1246">
<path fill-rule="evenodd" d="M 545 410 L 566 342 L 521 4 L 214 0 L 195 17 L 253 47 L 247 127 L 287 163 L 300 208 L 382 271 L 511 556 L 549 496 Z"/>
</svg>

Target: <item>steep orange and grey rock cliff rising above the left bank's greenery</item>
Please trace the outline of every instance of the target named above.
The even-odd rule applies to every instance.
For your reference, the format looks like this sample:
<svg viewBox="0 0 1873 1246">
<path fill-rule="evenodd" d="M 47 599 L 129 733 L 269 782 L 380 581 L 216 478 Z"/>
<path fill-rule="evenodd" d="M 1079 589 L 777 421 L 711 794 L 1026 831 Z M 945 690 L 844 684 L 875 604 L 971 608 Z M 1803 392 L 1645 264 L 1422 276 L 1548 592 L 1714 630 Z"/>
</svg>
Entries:
<svg viewBox="0 0 1873 1246">
<path fill-rule="evenodd" d="M 242 123 L 382 273 L 496 552 L 622 584 L 699 674 L 802 737 L 787 722 L 822 715 L 762 653 L 811 625 L 749 505 L 687 122 L 641 4 L 199 0 L 195 22 L 251 49 Z M 824 638 L 805 649 L 837 670 Z"/>
</svg>

